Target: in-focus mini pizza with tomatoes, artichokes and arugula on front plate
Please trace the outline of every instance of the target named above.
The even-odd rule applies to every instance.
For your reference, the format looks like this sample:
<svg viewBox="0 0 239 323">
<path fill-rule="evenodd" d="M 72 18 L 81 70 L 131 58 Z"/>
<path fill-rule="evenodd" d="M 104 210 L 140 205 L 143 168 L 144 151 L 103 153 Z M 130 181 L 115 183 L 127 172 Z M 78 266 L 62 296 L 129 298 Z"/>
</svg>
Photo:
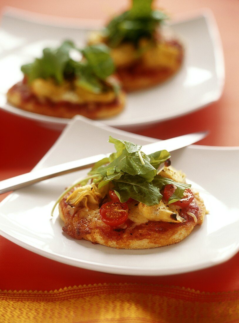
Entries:
<svg viewBox="0 0 239 323">
<path fill-rule="evenodd" d="M 118 249 L 147 249 L 178 243 L 203 223 L 203 200 L 171 167 L 168 151 L 145 155 L 131 142 L 109 142 L 117 152 L 97 162 L 54 206 L 59 203 L 65 234 Z"/>
</svg>

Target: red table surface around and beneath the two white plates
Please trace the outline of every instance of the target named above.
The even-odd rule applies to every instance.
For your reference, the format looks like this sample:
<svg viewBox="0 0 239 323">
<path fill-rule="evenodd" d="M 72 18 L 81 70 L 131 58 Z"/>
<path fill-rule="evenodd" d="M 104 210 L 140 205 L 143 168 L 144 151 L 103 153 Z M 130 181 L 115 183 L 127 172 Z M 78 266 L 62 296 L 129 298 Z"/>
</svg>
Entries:
<svg viewBox="0 0 239 323">
<path fill-rule="evenodd" d="M 37 13 L 73 17 L 106 19 L 126 7 L 128 1 L 115 0 L 54 0 L 48 2 L 2 0 L 5 5 L 32 10 Z M 222 37 L 225 57 L 225 87 L 221 99 L 189 115 L 164 121 L 136 133 L 166 139 L 183 133 L 210 130 L 203 145 L 239 146 L 239 2 L 237 0 L 163 0 L 157 2 L 172 15 L 208 7 L 213 10 Z M 94 8 L 94 9 L 92 9 Z M 0 77 L 3 77 L 2 75 Z M 0 180 L 30 171 L 60 135 L 59 131 L 44 128 L 0 111 Z M 6 194 L 0 196 L 2 200 Z M 0 289 L 54 290 L 66 286 L 94 283 L 143 282 L 188 287 L 200 291 L 220 292 L 239 289 L 239 253 L 229 261 L 199 271 L 171 276 L 123 276 L 68 266 L 36 255 L 0 237 Z"/>
</svg>

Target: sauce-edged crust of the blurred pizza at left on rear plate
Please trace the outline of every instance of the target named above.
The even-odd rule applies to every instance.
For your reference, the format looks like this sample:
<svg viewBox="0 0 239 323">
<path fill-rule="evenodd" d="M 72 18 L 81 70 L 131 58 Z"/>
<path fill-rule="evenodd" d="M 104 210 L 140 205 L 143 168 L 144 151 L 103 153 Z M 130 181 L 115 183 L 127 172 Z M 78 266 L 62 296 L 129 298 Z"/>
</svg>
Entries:
<svg viewBox="0 0 239 323">
<path fill-rule="evenodd" d="M 71 119 L 82 115 L 90 119 L 105 119 L 119 114 L 125 106 L 125 93 L 120 91 L 112 102 L 90 102 L 88 104 L 72 104 L 69 102 L 40 101 L 32 95 L 23 82 L 15 84 L 7 92 L 7 100 L 13 106 L 47 116 Z"/>
</svg>

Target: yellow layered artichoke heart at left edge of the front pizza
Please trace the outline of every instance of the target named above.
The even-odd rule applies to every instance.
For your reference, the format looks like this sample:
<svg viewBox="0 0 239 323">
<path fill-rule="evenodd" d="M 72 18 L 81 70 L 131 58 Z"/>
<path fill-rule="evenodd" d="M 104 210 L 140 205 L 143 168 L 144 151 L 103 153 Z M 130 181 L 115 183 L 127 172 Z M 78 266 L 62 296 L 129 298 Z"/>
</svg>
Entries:
<svg viewBox="0 0 239 323">
<path fill-rule="evenodd" d="M 109 188 L 107 185 L 103 186 L 100 190 L 94 183 L 80 186 L 68 196 L 66 202 L 70 206 L 97 209 L 99 202 L 105 197 L 108 191 Z"/>
</svg>

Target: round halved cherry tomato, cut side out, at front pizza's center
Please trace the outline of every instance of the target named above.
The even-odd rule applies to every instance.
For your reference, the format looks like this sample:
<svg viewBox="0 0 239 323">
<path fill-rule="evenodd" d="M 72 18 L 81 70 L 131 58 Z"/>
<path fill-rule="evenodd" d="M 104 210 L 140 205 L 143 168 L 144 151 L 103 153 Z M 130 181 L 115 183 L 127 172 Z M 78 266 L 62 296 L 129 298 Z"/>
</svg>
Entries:
<svg viewBox="0 0 239 323">
<path fill-rule="evenodd" d="M 101 205 L 99 215 L 101 220 L 110 225 L 123 224 L 128 218 L 128 205 L 120 202 L 107 202 Z"/>
</svg>

